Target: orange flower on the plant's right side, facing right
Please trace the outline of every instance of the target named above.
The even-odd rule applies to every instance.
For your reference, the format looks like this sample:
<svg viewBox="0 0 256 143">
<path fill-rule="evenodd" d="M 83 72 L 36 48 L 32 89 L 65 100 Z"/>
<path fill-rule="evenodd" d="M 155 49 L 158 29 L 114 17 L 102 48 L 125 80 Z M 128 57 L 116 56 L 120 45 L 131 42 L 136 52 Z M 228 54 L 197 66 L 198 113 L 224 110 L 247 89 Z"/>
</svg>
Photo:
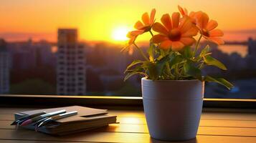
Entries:
<svg viewBox="0 0 256 143">
<path fill-rule="evenodd" d="M 216 44 L 224 44 L 221 38 L 224 35 L 223 32 L 220 29 L 215 29 L 218 26 L 217 21 L 209 21 L 209 16 L 206 13 L 199 11 L 196 14 L 196 25 L 205 39 L 209 39 L 209 41 Z"/>
</svg>

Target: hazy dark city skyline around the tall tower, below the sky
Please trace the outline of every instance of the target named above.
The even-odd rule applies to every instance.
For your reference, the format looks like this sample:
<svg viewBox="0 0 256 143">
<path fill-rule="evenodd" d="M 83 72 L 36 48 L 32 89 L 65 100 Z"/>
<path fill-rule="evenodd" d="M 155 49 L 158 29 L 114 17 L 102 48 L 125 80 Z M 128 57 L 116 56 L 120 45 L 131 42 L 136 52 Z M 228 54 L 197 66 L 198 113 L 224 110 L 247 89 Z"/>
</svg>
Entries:
<svg viewBox="0 0 256 143">
<path fill-rule="evenodd" d="M 63 36 L 65 37 L 65 35 Z M 69 37 L 72 38 L 72 36 Z M 251 66 L 255 63 L 255 43 L 255 40 L 249 39 L 246 48 L 247 54 L 242 56 L 237 54 L 237 52 L 231 54 L 224 53 L 216 44 L 202 42 L 202 47 L 209 44 L 212 49 L 212 55 L 223 61 L 227 68 L 230 69 L 227 73 L 224 73 L 219 69 L 207 68 L 207 73 L 227 77 L 235 85 L 234 90 L 228 91 L 217 84 L 209 83 L 206 86 L 206 98 L 255 98 L 256 67 Z M 60 62 L 63 62 L 63 64 L 60 64 L 65 69 L 71 68 L 73 70 L 72 67 L 68 66 L 68 60 L 62 60 L 62 57 L 69 55 L 61 55 L 58 52 L 52 53 L 52 43 L 47 41 L 6 42 L 6 45 L 11 54 L 11 63 L 9 64 L 11 68 L 10 94 L 61 94 L 57 92 L 57 89 L 58 84 L 62 84 L 60 82 L 62 77 L 59 77 L 58 75 L 61 73 L 56 71 L 60 67 Z M 102 94 L 114 96 L 123 94 L 123 96 L 139 96 L 139 77 L 123 82 L 125 65 L 131 63 L 131 60 L 135 57 L 140 58 L 138 53 L 135 52 L 133 55 L 128 53 L 120 54 L 120 50 L 116 46 L 108 43 L 98 43 L 93 46 L 82 43 L 82 45 L 84 46 L 85 53 L 80 56 L 84 56 L 86 59 L 86 64 L 83 64 L 83 67 L 86 69 L 86 75 L 83 74 L 84 76 L 82 77 L 85 77 L 86 80 L 87 95 Z M 231 44 L 230 46 L 234 45 Z M 143 47 L 143 50 L 146 50 L 145 47 Z M 96 54 L 98 56 L 94 56 Z M 67 59 L 70 58 L 67 57 Z M 113 61 L 113 59 L 116 60 Z M 77 64 L 74 63 L 72 65 L 75 66 Z M 78 69 L 81 68 L 79 66 L 76 67 Z M 250 70 L 248 71 L 248 69 Z M 66 71 L 64 73 L 69 74 Z M 70 78 L 72 80 L 72 77 Z M 67 86 L 68 84 L 72 85 L 74 83 L 63 83 L 63 85 Z M 31 86 L 33 89 L 29 88 Z M 249 90 L 251 91 L 250 94 L 247 93 Z M 76 94 L 79 93 L 77 92 Z M 68 95 L 71 95 L 71 92 Z"/>
</svg>

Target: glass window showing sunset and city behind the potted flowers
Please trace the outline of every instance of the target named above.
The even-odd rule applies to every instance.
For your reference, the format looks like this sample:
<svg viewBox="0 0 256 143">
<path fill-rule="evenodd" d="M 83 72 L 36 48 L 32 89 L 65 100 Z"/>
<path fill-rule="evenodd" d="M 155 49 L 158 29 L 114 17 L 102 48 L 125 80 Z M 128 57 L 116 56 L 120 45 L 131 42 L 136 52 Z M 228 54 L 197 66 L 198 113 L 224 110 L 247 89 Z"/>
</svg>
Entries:
<svg viewBox="0 0 256 143">
<path fill-rule="evenodd" d="M 133 59 L 142 57 L 133 48 L 127 52 L 120 50 L 128 40 L 126 33 L 133 29 L 130 22 L 140 20 L 143 11 L 150 11 L 152 2 L 68 1 L 70 4 L 62 0 L 51 4 L 1 1 L 0 94 L 140 97 L 141 76 L 123 82 L 123 71 Z M 208 67 L 204 72 L 225 77 L 234 84 L 228 90 L 207 83 L 205 97 L 256 99 L 256 1 L 226 4 L 216 0 L 214 6 L 212 1 L 199 1 L 182 4 L 189 11 L 204 10 L 210 19 L 219 21 L 225 44 L 203 41 L 200 45 L 209 45 L 212 56 L 228 69 Z M 157 6 L 161 8 L 156 11 L 158 19 L 163 12 L 178 11 L 178 4 L 178 0 L 163 0 Z M 16 11 L 22 19 L 17 18 Z M 74 26 L 77 28 L 70 29 Z M 149 34 L 137 39 L 145 53 L 148 37 Z"/>
</svg>

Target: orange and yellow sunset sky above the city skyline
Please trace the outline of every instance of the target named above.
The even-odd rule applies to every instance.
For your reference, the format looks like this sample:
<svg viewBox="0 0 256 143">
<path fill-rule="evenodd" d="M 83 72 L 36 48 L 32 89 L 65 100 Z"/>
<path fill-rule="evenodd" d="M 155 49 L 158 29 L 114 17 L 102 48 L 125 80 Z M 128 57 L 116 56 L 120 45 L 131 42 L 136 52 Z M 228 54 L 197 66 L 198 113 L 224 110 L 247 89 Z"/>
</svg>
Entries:
<svg viewBox="0 0 256 143">
<path fill-rule="evenodd" d="M 227 40 L 256 34 L 255 0 L 1 0 L 0 37 L 56 41 L 57 28 L 77 28 L 81 40 L 115 41 L 116 34 L 133 29 L 143 12 L 156 8 L 159 20 L 162 14 L 178 11 L 178 4 L 207 12 L 227 31 Z"/>
</svg>

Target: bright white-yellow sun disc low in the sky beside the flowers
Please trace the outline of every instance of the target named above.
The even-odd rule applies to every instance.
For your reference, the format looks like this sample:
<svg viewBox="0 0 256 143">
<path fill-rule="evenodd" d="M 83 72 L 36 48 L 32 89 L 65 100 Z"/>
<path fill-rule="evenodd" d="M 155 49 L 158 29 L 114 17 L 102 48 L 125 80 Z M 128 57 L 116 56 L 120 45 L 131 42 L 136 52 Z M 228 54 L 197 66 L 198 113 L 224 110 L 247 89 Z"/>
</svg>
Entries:
<svg viewBox="0 0 256 143">
<path fill-rule="evenodd" d="M 128 38 L 126 37 L 126 34 L 130 31 L 128 27 L 120 26 L 113 30 L 112 38 L 115 41 L 126 41 Z"/>
</svg>

